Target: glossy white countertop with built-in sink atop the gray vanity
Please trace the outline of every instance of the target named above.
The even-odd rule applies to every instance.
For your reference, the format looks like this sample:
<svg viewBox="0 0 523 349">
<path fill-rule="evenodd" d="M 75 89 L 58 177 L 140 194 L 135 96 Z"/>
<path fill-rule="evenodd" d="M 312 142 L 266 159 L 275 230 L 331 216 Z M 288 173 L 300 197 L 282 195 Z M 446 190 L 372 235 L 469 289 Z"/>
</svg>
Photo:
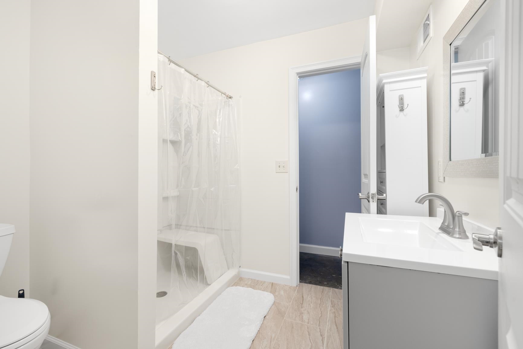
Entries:
<svg viewBox="0 0 523 349">
<path fill-rule="evenodd" d="M 407 224 L 406 221 L 412 222 L 412 224 L 416 224 L 416 222 L 424 223 L 429 230 L 420 232 L 405 230 L 400 236 L 394 235 L 394 232 L 387 232 L 388 229 L 381 229 L 380 232 L 377 232 L 376 237 L 371 234 L 370 238 L 362 232 L 363 224 L 367 224 L 367 228 L 365 228 L 367 230 L 374 226 L 396 226 L 397 230 L 397 227 L 401 227 L 401 224 Z M 441 224 L 441 219 L 435 217 L 346 213 L 343 260 L 497 280 L 498 258 L 494 249 L 485 246 L 483 251 L 476 251 L 472 247 L 472 233 L 492 234 L 493 229 L 470 220 L 464 219 L 463 223 L 469 235 L 467 240 L 450 238 L 447 234 L 440 232 L 438 227 Z M 427 240 L 430 240 L 430 242 L 424 241 L 418 244 L 419 237 L 417 234 L 424 233 L 427 233 L 426 236 L 429 237 Z M 402 241 L 396 241 L 396 238 Z M 425 235 L 420 238 L 425 239 Z M 377 243 L 376 241 L 381 242 Z"/>
</svg>

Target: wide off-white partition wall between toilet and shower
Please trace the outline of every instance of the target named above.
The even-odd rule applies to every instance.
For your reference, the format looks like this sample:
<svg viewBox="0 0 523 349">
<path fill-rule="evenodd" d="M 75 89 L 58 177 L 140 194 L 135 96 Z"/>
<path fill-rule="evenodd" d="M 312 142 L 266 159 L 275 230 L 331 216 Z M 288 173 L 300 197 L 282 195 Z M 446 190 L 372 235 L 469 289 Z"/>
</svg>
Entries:
<svg viewBox="0 0 523 349">
<path fill-rule="evenodd" d="M 31 296 L 82 349 L 154 347 L 155 6 L 31 7 Z"/>
</svg>

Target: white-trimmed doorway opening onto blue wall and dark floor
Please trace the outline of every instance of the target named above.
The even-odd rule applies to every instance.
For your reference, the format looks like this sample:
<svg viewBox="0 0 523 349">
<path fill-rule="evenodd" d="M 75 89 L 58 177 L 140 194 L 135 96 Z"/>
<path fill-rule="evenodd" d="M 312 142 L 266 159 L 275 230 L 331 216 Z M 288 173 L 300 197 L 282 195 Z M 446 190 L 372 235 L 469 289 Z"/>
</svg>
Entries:
<svg viewBox="0 0 523 349">
<path fill-rule="evenodd" d="M 361 212 L 356 195 L 361 181 L 360 57 L 344 61 L 325 62 L 330 66 L 323 69 L 291 69 L 291 79 L 295 78 L 295 86 L 290 86 L 291 136 L 295 131 L 295 142 L 290 137 L 289 169 L 295 169 L 290 173 L 291 188 L 293 178 L 296 183 L 290 200 L 291 284 L 295 285 L 342 288 L 339 250 L 345 212 Z"/>
</svg>

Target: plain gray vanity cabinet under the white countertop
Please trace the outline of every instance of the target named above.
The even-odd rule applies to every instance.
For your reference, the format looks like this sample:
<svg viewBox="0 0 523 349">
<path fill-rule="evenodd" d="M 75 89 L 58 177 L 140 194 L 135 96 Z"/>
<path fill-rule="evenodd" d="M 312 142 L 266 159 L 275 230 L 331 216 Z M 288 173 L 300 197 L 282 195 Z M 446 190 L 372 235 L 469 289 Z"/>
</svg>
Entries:
<svg viewBox="0 0 523 349">
<path fill-rule="evenodd" d="M 345 349 L 497 348 L 497 280 L 342 267 Z"/>
</svg>

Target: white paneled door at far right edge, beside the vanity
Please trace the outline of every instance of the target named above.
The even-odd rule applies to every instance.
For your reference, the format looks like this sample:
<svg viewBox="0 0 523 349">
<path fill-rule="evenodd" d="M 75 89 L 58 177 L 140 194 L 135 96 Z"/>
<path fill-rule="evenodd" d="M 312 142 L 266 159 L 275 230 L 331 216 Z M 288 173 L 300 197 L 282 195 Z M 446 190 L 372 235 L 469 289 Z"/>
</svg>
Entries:
<svg viewBox="0 0 523 349">
<path fill-rule="evenodd" d="M 499 259 L 498 346 L 523 349 L 523 7 L 520 0 L 506 0 L 505 4 L 504 121 L 499 139 L 503 254 Z"/>
</svg>

